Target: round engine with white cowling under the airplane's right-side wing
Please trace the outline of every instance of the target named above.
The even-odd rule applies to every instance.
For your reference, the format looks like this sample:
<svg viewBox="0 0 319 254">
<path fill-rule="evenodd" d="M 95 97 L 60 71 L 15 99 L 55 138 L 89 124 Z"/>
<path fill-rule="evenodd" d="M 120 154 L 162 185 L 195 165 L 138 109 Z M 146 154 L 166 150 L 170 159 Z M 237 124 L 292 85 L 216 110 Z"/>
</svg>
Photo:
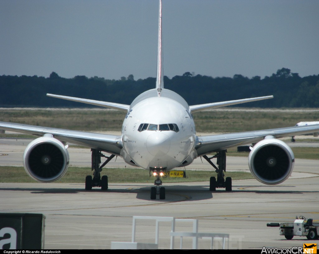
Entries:
<svg viewBox="0 0 319 254">
<path fill-rule="evenodd" d="M 266 138 L 249 153 L 248 165 L 252 175 L 264 184 L 274 185 L 287 180 L 293 172 L 295 157 L 285 142 Z"/>
</svg>

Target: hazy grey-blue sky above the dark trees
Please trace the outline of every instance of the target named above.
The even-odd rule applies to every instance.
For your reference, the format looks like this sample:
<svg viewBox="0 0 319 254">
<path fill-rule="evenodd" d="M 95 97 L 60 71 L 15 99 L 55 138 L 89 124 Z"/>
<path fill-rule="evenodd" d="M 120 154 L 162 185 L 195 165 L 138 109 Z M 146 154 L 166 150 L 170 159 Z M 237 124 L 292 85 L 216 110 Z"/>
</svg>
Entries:
<svg viewBox="0 0 319 254">
<path fill-rule="evenodd" d="M 162 0 L 164 75 L 319 74 L 318 0 Z M 0 75 L 156 77 L 158 0 L 1 0 Z"/>
</svg>

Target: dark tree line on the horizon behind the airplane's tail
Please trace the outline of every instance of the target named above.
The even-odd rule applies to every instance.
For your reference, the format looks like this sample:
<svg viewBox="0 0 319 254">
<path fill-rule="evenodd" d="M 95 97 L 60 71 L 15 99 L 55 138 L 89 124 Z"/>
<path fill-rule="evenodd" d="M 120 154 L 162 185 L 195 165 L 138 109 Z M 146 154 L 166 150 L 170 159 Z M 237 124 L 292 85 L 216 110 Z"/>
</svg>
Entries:
<svg viewBox="0 0 319 254">
<path fill-rule="evenodd" d="M 137 95 L 155 88 L 155 82 L 156 78 L 152 77 L 135 81 L 132 74 L 119 80 L 97 76 L 67 79 L 55 72 L 48 78 L 2 75 L 0 107 L 88 107 L 87 104 L 49 98 L 47 93 L 130 104 Z M 185 72 L 171 79 L 164 76 L 164 87 L 181 95 L 189 105 L 274 95 L 274 99 L 236 107 L 319 107 L 319 75 L 301 78 L 287 68 L 278 69 L 263 79 L 240 74 L 232 78 L 213 78 Z"/>
</svg>

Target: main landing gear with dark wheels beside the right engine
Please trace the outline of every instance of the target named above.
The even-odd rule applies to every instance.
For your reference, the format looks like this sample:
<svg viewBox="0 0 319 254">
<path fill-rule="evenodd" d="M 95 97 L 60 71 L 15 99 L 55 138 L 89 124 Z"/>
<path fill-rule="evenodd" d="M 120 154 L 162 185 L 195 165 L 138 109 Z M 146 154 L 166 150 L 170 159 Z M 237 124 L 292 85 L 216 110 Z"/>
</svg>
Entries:
<svg viewBox="0 0 319 254">
<path fill-rule="evenodd" d="M 226 172 L 226 152 L 227 150 L 223 150 L 220 152 L 217 152 L 215 156 L 208 158 L 207 155 L 204 155 L 203 158 L 208 161 L 211 166 L 213 166 L 217 173 L 217 180 L 214 176 L 210 178 L 209 181 L 209 190 L 210 191 L 216 191 L 216 188 L 225 188 L 226 191 L 232 190 L 232 178 L 226 177 L 224 179 L 224 172 Z M 217 166 L 212 163 L 211 159 L 217 158 Z"/>
</svg>

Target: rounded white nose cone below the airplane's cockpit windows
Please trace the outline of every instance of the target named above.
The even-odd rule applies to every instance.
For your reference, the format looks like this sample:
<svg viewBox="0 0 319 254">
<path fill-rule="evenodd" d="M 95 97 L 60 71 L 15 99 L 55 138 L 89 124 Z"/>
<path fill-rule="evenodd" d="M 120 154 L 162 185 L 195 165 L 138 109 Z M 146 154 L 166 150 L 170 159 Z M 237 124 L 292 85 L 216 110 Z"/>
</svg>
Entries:
<svg viewBox="0 0 319 254">
<path fill-rule="evenodd" d="M 170 139 L 164 133 L 154 133 L 147 138 L 146 147 L 150 154 L 163 156 L 171 146 Z"/>
</svg>

